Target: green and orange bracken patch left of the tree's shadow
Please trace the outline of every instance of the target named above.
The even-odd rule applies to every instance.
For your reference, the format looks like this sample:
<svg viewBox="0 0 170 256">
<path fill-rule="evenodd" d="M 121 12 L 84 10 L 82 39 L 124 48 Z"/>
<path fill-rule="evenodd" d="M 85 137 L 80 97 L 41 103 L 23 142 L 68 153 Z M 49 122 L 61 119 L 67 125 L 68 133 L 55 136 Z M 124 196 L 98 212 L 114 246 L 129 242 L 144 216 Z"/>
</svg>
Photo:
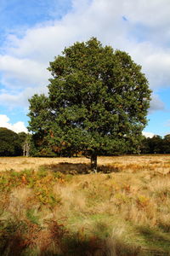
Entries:
<svg viewBox="0 0 170 256">
<path fill-rule="evenodd" d="M 0 192 L 10 193 L 14 188 L 27 187 L 33 189 L 35 200 L 42 205 L 54 207 L 61 203 L 60 197 L 53 192 L 54 183 L 60 182 L 60 179 L 55 173 L 50 174 L 43 168 L 37 172 L 33 170 L 0 172 Z"/>
</svg>

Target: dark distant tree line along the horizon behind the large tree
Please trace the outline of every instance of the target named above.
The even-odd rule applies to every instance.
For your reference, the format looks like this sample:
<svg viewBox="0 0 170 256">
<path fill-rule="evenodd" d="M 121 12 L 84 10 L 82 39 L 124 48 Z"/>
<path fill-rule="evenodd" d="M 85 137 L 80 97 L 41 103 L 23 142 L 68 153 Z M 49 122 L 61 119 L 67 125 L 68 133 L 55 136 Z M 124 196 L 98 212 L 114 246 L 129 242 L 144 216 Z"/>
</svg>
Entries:
<svg viewBox="0 0 170 256">
<path fill-rule="evenodd" d="M 7 128 L 0 127 L 0 156 L 71 156 L 71 148 L 59 148 L 51 145 L 44 137 L 26 134 L 26 132 L 16 133 Z M 165 137 L 143 137 L 139 148 L 136 151 L 129 148 L 127 154 L 170 154 L 170 134 Z M 82 154 L 79 152 L 79 154 Z M 124 154 L 123 148 L 117 151 L 100 150 L 100 155 Z"/>
</svg>

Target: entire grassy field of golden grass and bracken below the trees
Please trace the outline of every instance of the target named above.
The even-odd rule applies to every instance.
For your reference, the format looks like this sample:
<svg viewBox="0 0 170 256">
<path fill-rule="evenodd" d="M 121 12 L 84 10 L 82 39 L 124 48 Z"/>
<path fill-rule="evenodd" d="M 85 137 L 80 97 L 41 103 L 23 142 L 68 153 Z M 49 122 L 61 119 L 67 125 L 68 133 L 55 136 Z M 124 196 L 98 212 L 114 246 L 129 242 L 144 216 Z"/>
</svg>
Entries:
<svg viewBox="0 0 170 256">
<path fill-rule="evenodd" d="M 0 164 L 0 255 L 170 255 L 169 155 Z"/>
</svg>

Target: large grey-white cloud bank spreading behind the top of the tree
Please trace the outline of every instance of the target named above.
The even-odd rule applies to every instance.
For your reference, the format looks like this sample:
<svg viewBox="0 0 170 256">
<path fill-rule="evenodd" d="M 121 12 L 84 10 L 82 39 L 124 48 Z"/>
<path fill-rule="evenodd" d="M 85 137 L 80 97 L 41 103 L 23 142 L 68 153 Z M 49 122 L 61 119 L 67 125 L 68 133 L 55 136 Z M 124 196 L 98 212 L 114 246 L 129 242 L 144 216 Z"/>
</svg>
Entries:
<svg viewBox="0 0 170 256">
<path fill-rule="evenodd" d="M 8 100 L 8 105 L 26 106 L 27 97 L 39 88 L 47 91 L 48 61 L 65 46 L 92 36 L 132 55 L 153 90 L 170 86 L 170 33 L 164 30 L 170 26 L 169 8 L 169 0 L 72 0 L 71 12 L 61 20 L 27 29 L 22 38 L 9 35 L 0 55 L 1 84 L 8 89 L 0 96 L 1 104 Z M 150 111 L 160 108 L 163 104 L 155 96 Z"/>
</svg>

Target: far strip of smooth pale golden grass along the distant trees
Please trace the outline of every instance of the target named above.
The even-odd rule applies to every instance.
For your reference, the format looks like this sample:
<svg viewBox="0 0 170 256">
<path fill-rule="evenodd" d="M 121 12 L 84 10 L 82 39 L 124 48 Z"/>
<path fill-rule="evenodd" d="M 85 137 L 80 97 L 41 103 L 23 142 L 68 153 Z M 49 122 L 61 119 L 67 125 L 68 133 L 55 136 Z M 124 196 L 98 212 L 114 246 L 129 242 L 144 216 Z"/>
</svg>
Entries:
<svg viewBox="0 0 170 256">
<path fill-rule="evenodd" d="M 0 157 L 0 172 L 13 169 L 15 171 L 22 171 L 24 169 L 38 170 L 40 166 L 57 165 L 59 163 L 71 164 L 89 164 L 90 160 L 85 157 L 78 158 L 33 158 L 33 157 Z M 157 174 L 166 175 L 170 172 L 170 155 L 127 155 L 127 156 L 108 156 L 98 158 L 99 166 L 114 166 L 122 172 L 145 172 L 150 171 Z"/>
</svg>

